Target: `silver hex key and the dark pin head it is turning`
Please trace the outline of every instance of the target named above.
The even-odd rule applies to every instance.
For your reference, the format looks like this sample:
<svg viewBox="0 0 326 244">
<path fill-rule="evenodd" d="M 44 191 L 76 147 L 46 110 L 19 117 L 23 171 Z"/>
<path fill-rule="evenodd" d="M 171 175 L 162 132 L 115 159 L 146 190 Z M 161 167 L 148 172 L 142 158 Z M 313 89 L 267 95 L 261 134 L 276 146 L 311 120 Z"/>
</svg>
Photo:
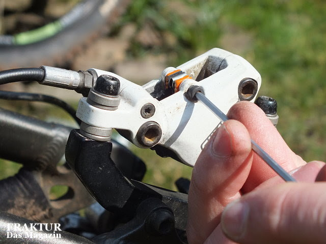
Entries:
<svg viewBox="0 0 326 244">
<path fill-rule="evenodd" d="M 210 111 L 212 111 L 216 116 L 218 116 L 222 122 L 224 123 L 228 120 L 228 116 L 226 116 L 218 107 L 216 107 L 205 95 L 202 87 L 193 85 L 188 88 L 187 95 L 189 98 L 193 100 L 201 101 Z M 251 139 L 252 149 L 255 153 L 264 160 L 270 168 L 272 168 L 278 175 L 280 175 L 285 181 L 293 181 L 296 180 L 289 175 L 273 158 L 271 158 L 266 151 L 264 151 L 253 139 Z"/>
</svg>

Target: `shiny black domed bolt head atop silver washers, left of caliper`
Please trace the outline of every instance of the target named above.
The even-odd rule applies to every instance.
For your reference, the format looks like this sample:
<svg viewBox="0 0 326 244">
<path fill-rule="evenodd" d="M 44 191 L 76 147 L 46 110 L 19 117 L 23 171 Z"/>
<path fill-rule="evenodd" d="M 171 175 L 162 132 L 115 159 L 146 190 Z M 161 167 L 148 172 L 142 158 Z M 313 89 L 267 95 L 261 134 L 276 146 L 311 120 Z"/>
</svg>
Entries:
<svg viewBox="0 0 326 244">
<path fill-rule="evenodd" d="M 120 80 L 111 75 L 101 75 L 97 78 L 93 89 L 100 94 L 117 96 L 120 89 Z"/>
</svg>

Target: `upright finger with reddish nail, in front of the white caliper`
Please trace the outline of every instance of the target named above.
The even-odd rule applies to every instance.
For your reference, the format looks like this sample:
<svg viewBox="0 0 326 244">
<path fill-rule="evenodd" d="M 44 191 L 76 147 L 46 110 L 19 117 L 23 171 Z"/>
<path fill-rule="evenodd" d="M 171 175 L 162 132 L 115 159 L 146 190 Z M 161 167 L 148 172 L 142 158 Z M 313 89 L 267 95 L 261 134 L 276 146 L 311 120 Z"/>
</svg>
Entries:
<svg viewBox="0 0 326 244">
<path fill-rule="evenodd" d="M 194 167 L 188 195 L 189 243 L 203 243 L 219 225 L 224 207 L 240 197 L 252 155 L 247 129 L 232 119 L 205 145 Z"/>
</svg>

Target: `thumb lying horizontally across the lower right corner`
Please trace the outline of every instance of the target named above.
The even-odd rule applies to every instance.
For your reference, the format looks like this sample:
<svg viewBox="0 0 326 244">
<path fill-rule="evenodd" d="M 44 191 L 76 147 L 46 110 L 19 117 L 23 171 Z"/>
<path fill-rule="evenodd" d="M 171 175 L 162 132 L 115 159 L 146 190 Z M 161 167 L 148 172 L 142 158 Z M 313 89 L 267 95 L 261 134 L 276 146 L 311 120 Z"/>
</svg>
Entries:
<svg viewBox="0 0 326 244">
<path fill-rule="evenodd" d="M 325 243 L 326 183 L 285 183 L 229 204 L 223 232 L 240 243 Z"/>
</svg>

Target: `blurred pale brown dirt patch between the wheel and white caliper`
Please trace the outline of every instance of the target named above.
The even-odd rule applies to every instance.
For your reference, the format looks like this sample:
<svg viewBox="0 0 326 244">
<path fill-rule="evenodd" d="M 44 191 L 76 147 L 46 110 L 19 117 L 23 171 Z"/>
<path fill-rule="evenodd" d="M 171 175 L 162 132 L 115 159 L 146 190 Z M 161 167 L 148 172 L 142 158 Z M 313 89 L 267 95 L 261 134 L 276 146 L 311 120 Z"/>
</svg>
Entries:
<svg viewBox="0 0 326 244">
<path fill-rule="evenodd" d="M 164 54 L 130 58 L 128 48 L 130 38 L 137 35 L 135 30 L 136 27 L 129 24 L 124 26 L 116 37 L 98 38 L 84 53 L 76 56 L 72 69 L 109 70 L 138 84 L 157 79 L 167 66 L 167 58 Z M 148 33 L 148 35 L 151 34 Z"/>
</svg>

